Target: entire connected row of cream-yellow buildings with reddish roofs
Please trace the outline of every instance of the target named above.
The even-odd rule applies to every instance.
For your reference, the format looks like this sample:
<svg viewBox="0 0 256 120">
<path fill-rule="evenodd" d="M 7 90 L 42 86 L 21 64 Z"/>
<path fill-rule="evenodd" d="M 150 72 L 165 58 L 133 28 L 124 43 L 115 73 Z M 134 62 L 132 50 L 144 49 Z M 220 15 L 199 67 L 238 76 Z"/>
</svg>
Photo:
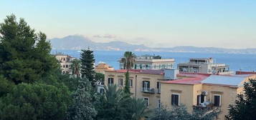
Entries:
<svg viewBox="0 0 256 120">
<path fill-rule="evenodd" d="M 105 71 L 105 86 L 125 86 L 125 69 Z M 132 96 L 146 101 L 148 109 L 163 106 L 186 105 L 193 109 L 221 109 L 219 119 L 228 114 L 229 104 L 234 103 L 237 94 L 243 93 L 243 84 L 256 79 L 255 74 L 212 75 L 180 73 L 174 69 L 130 70 L 129 86 Z M 101 91 L 104 91 L 102 89 Z"/>
</svg>

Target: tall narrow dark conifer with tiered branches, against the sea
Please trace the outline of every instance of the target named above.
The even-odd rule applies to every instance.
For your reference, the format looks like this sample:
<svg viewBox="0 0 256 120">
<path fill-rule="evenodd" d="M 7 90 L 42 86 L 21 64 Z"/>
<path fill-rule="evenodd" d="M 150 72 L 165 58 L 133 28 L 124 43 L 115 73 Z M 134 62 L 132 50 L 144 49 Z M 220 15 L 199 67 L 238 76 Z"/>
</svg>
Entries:
<svg viewBox="0 0 256 120">
<path fill-rule="evenodd" d="M 95 81 L 95 71 L 93 67 L 95 63 L 93 51 L 91 51 L 90 49 L 82 50 L 80 60 L 82 62 L 82 66 L 81 66 L 82 78 L 86 77 L 94 86 L 96 81 Z"/>
</svg>

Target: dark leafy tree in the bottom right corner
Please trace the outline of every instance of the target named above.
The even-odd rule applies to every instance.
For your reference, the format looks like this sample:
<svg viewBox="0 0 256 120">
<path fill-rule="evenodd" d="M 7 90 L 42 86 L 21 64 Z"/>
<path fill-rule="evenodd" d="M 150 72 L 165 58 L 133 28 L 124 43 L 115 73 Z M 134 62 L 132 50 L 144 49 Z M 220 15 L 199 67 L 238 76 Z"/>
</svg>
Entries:
<svg viewBox="0 0 256 120">
<path fill-rule="evenodd" d="M 229 115 L 226 119 L 245 119 L 256 118 L 256 79 L 250 79 L 244 84 L 245 94 L 237 95 L 235 104 L 229 105 Z"/>
</svg>

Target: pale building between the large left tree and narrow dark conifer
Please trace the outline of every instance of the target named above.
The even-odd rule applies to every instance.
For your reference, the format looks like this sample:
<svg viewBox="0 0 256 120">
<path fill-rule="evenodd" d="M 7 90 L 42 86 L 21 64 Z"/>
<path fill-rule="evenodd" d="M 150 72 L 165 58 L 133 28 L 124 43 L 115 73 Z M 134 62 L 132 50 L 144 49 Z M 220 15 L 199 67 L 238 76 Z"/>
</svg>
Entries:
<svg viewBox="0 0 256 120">
<path fill-rule="evenodd" d="M 54 56 L 60 62 L 62 74 L 72 74 L 72 69 L 70 69 L 70 66 L 72 64 L 72 60 L 76 58 L 66 54 L 54 54 Z"/>
</svg>

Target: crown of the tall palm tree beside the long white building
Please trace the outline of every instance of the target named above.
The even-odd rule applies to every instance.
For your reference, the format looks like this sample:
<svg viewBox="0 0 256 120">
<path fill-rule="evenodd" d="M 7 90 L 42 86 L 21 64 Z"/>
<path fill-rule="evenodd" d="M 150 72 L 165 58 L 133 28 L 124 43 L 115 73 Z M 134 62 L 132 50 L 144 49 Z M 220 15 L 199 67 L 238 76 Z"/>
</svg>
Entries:
<svg viewBox="0 0 256 120">
<path fill-rule="evenodd" d="M 123 58 L 121 61 L 123 61 L 123 69 L 132 69 L 134 63 L 135 63 L 136 55 L 133 54 L 131 51 L 125 51 L 125 54 L 123 55 Z"/>
</svg>

